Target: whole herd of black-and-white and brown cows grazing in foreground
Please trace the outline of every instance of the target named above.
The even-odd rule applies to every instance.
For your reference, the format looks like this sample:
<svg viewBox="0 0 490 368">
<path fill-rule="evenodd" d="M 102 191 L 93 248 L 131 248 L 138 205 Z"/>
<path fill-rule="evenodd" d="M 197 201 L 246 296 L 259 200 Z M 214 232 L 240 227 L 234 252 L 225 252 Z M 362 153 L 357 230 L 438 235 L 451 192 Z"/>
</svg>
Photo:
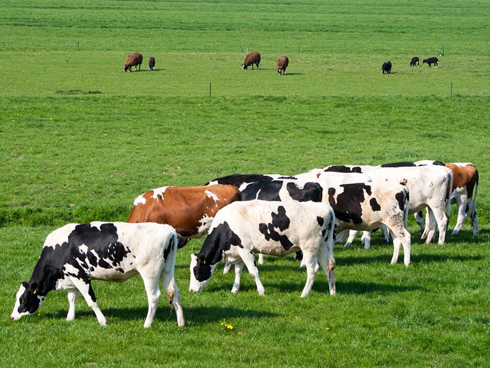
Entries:
<svg viewBox="0 0 490 368">
<path fill-rule="evenodd" d="M 141 275 L 148 299 L 144 327 L 153 321 L 162 284 L 174 307 L 177 324 L 184 325 L 180 292 L 174 280 L 177 249 L 190 238 L 207 235 L 200 251 L 191 255 L 189 291 L 201 290 L 219 261 L 234 265 L 231 292 L 238 291 L 245 265 L 258 294 L 263 255 L 295 253 L 306 268 L 305 297 L 321 267 L 334 295 L 333 243 L 348 248 L 362 231 L 364 248 L 370 231 L 381 228 L 393 243 L 391 263 L 403 247 L 410 264 L 407 217 L 415 214 L 422 238 L 429 243 L 438 230 L 442 245 L 450 216 L 457 205 L 457 234 L 467 216 L 478 233 L 476 193 L 478 172 L 471 163 L 439 161 L 397 162 L 379 166 L 331 165 L 293 176 L 233 174 L 200 186 L 151 189 L 133 201 L 127 222 L 68 224 L 50 233 L 30 280 L 16 294 L 11 319 L 32 314 L 51 290 L 68 292 L 67 320 L 75 316 L 81 293 L 98 322 L 106 324 L 91 286 L 92 279 L 123 282 Z M 425 220 L 421 211 L 425 209 Z"/>
</svg>

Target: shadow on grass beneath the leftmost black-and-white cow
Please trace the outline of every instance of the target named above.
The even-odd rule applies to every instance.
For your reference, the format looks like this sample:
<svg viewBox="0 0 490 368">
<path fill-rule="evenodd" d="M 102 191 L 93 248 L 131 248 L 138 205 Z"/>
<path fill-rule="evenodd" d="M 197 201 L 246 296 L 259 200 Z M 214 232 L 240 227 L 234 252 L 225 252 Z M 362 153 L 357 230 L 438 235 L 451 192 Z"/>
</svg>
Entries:
<svg viewBox="0 0 490 368">
<path fill-rule="evenodd" d="M 186 323 L 191 322 L 192 324 L 207 324 L 213 322 L 221 322 L 223 318 L 233 319 L 233 318 L 274 318 L 279 316 L 277 313 L 258 311 L 254 309 L 240 309 L 230 306 L 220 307 L 220 306 L 199 306 L 199 307 L 189 307 L 186 304 L 182 305 L 184 318 Z M 140 321 L 141 327 L 143 326 L 144 320 L 146 318 L 146 313 L 148 308 L 146 306 L 132 307 L 132 308 L 103 308 L 101 309 L 104 316 L 107 318 L 108 323 L 117 323 L 117 320 L 122 321 Z M 65 319 L 67 311 L 58 310 L 53 313 L 52 317 L 55 319 Z M 95 313 L 91 309 L 77 310 L 76 319 L 93 319 L 97 320 Z M 160 299 L 158 303 L 158 308 L 156 309 L 155 320 L 153 324 L 157 321 L 175 323 L 177 318 L 175 316 L 175 311 L 170 311 L 168 304 L 163 302 L 163 298 Z"/>
</svg>

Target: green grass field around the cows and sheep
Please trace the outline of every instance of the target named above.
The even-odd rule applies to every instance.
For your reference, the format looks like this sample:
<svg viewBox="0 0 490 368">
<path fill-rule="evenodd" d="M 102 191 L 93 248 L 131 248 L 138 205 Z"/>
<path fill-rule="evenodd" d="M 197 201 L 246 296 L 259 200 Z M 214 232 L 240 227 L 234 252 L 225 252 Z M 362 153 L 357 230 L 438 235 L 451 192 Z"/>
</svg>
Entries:
<svg viewBox="0 0 490 368">
<path fill-rule="evenodd" d="M 0 366 L 487 366 L 489 11 L 465 0 L 4 1 Z M 258 70 L 241 69 L 247 48 Z M 136 51 L 141 71 L 123 73 Z M 279 77 L 280 55 L 290 65 Z M 439 67 L 410 67 L 413 56 Z M 466 220 L 451 236 L 453 210 L 446 244 L 424 244 L 410 219 L 409 267 L 389 264 L 378 234 L 369 251 L 337 246 L 333 297 L 319 272 L 299 298 L 306 274 L 290 257 L 259 267 L 263 297 L 246 272 L 232 295 L 221 268 L 191 294 L 199 239 L 177 254 L 184 328 L 162 297 L 143 329 L 138 277 L 93 282 L 106 327 L 81 297 L 67 322 L 64 291 L 9 320 L 50 231 L 124 221 L 147 189 L 421 159 L 476 165 L 480 233 Z"/>
</svg>

